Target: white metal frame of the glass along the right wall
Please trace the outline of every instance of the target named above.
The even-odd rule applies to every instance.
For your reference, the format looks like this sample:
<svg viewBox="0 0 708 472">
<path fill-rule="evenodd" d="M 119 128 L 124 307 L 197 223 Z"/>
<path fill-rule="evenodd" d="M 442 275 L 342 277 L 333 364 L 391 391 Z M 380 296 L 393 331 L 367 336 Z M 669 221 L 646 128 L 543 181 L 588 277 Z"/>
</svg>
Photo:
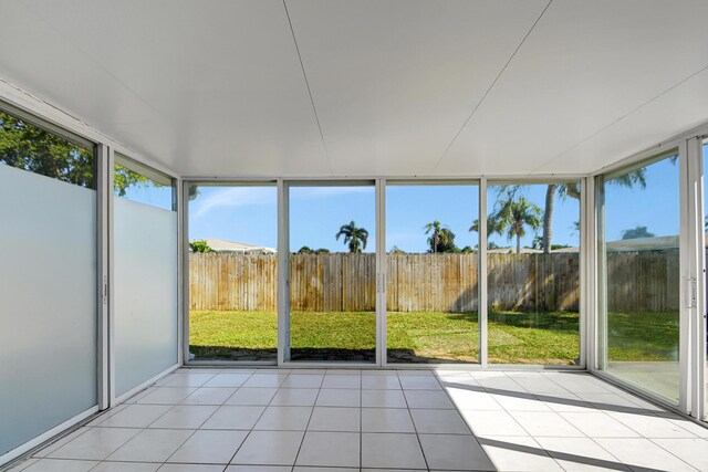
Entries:
<svg viewBox="0 0 708 472">
<path fill-rule="evenodd" d="M 590 343 L 586 344 L 589 354 L 587 370 L 597 377 L 615 384 L 628 391 L 643 396 L 654 402 L 696 420 L 706 417 L 706 266 L 704 230 L 704 166 L 702 141 L 708 135 L 708 124 L 690 129 L 655 147 L 645 149 L 627 158 L 603 167 L 589 176 L 590 188 L 586 207 L 585 223 L 587 224 L 589 247 L 586 252 L 593 261 L 587 264 L 590 276 L 587 289 L 593 294 L 590 301 L 591 316 L 587 329 Z M 678 405 L 646 388 L 631 384 L 604 370 L 602 358 L 604 349 L 598 347 L 603 342 L 600 311 L 600 296 L 603 290 L 602 268 L 598 263 L 601 255 L 597 250 L 600 243 L 598 231 L 602 225 L 602 201 L 597 196 L 597 186 L 602 176 L 641 165 L 652 162 L 653 158 L 673 149 L 678 149 L 679 161 L 679 399 Z M 592 183 L 592 185 L 590 185 Z"/>
</svg>

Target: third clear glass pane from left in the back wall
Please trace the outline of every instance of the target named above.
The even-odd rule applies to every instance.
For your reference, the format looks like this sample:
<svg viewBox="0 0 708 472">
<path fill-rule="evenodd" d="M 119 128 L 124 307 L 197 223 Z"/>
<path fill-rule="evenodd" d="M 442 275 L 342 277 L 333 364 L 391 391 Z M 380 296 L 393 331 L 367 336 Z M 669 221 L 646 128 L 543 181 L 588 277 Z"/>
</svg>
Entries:
<svg viewBox="0 0 708 472">
<path fill-rule="evenodd" d="M 388 363 L 477 363 L 479 187 L 386 187 Z"/>
</svg>

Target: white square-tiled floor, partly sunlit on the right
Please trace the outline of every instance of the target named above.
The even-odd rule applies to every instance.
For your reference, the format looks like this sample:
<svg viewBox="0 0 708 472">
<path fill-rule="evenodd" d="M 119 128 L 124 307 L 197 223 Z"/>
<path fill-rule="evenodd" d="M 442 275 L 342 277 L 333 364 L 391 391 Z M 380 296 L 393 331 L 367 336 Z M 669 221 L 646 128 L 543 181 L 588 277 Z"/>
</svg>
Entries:
<svg viewBox="0 0 708 472">
<path fill-rule="evenodd" d="M 580 373 L 180 369 L 13 471 L 696 471 L 708 429 Z"/>
</svg>

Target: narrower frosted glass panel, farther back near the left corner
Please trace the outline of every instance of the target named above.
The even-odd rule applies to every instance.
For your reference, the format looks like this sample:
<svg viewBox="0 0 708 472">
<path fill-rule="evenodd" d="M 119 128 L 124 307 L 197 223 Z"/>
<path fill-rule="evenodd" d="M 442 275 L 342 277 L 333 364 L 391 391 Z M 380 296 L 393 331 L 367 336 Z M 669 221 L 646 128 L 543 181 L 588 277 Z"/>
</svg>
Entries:
<svg viewBox="0 0 708 472">
<path fill-rule="evenodd" d="M 116 396 L 177 363 L 177 213 L 116 198 Z"/>
</svg>

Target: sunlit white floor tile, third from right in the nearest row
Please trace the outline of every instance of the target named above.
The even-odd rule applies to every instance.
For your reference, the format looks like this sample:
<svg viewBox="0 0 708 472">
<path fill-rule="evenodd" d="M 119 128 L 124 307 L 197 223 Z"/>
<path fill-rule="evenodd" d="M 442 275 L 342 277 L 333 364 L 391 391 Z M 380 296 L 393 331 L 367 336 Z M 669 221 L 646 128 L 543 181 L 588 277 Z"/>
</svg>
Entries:
<svg viewBox="0 0 708 472">
<path fill-rule="evenodd" d="M 629 470 L 592 439 L 537 438 L 537 441 L 566 471 Z"/>
</svg>

